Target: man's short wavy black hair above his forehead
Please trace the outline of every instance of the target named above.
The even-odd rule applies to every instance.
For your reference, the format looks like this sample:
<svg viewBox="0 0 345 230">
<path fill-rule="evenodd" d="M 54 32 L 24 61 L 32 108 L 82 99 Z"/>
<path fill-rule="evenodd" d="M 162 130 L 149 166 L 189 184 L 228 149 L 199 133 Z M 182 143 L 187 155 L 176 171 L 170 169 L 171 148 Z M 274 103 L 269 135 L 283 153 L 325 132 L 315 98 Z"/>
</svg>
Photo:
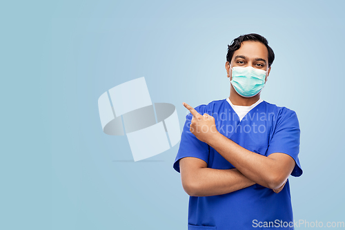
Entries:
<svg viewBox="0 0 345 230">
<path fill-rule="evenodd" d="M 275 53 L 273 52 L 273 49 L 268 46 L 268 41 L 266 38 L 254 33 L 241 35 L 233 39 L 230 46 L 228 45 L 228 54 L 226 55 L 226 61 L 229 61 L 231 63 L 231 59 L 233 59 L 235 50 L 238 50 L 241 47 L 242 42 L 244 41 L 259 41 L 266 46 L 268 50 L 268 68 L 270 68 L 270 66 L 273 64 L 273 61 L 275 60 Z"/>
</svg>

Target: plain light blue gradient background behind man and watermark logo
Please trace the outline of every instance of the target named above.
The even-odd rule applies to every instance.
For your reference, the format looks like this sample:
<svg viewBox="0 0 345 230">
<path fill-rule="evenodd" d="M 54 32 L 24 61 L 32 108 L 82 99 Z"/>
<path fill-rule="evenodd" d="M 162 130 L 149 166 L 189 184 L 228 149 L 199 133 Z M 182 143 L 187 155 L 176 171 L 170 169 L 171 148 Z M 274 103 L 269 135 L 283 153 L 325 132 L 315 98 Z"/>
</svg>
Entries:
<svg viewBox="0 0 345 230">
<path fill-rule="evenodd" d="M 179 144 L 131 162 L 126 136 L 102 132 L 97 99 L 145 77 L 182 130 L 182 102 L 228 97 L 227 45 L 250 32 L 276 55 L 262 98 L 302 130 L 295 220 L 345 222 L 343 2 L 2 3 L 0 229 L 187 229 Z"/>
</svg>

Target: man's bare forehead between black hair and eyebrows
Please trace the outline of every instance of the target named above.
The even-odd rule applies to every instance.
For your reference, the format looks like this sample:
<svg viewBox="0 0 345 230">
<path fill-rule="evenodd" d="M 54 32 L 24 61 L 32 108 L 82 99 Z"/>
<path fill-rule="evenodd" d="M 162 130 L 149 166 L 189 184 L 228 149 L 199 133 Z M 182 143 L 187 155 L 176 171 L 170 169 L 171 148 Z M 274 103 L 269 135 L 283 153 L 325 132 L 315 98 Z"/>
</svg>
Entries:
<svg viewBox="0 0 345 230">
<path fill-rule="evenodd" d="M 243 55 L 248 59 L 262 58 L 268 61 L 268 50 L 264 44 L 259 41 L 244 41 L 241 47 L 234 52 L 233 59 L 237 55 Z"/>
</svg>

